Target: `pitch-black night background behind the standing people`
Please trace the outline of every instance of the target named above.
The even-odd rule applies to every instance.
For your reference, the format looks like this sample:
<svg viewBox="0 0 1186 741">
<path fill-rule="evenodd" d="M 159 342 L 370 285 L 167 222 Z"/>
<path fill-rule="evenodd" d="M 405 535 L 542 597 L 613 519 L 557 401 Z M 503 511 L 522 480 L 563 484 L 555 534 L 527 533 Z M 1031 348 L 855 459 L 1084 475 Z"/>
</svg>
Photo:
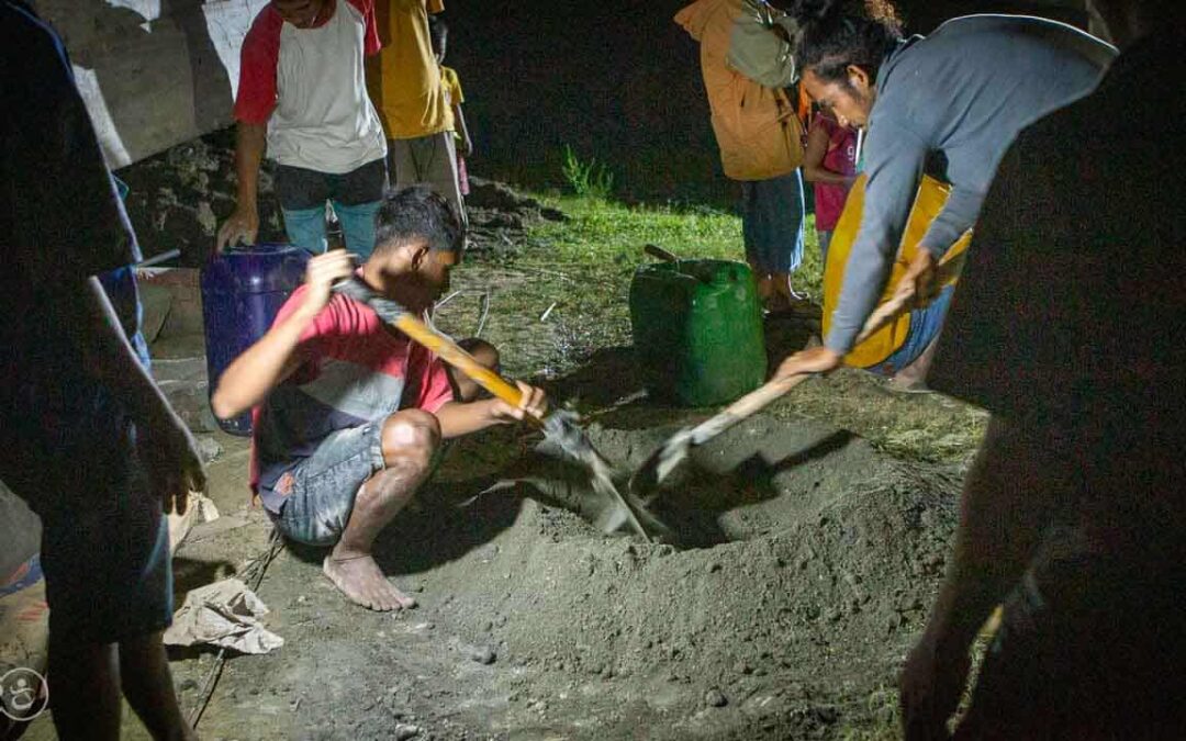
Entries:
<svg viewBox="0 0 1186 741">
<path fill-rule="evenodd" d="M 562 151 L 595 158 L 626 202 L 727 205 L 683 0 L 446 0 L 477 149 L 471 174 L 562 186 Z M 1058 7 L 1061 5 L 1063 7 Z M 1082 0 L 905 0 L 907 30 L 967 13 L 1025 12 L 1086 25 Z"/>
</svg>

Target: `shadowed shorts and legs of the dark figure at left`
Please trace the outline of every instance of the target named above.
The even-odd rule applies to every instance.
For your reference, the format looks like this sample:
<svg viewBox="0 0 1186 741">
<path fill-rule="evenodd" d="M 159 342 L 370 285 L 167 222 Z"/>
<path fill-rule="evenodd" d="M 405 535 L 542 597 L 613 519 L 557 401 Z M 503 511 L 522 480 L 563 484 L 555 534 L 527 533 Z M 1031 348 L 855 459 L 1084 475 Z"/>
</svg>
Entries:
<svg viewBox="0 0 1186 741">
<path fill-rule="evenodd" d="M 168 528 L 130 430 L 122 443 L 119 432 L 75 451 L 57 481 L 64 494 L 39 503 L 53 717 L 62 737 L 119 737 L 122 686 L 154 739 L 192 737 L 161 645 L 172 619 Z"/>
</svg>

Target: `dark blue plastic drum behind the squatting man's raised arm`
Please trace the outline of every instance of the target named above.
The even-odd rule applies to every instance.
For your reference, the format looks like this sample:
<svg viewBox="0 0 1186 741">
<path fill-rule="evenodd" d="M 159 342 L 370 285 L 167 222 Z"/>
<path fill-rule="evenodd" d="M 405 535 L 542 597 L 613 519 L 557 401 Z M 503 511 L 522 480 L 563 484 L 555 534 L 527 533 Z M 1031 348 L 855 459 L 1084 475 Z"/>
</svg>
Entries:
<svg viewBox="0 0 1186 741">
<path fill-rule="evenodd" d="M 228 248 L 202 269 L 202 319 L 210 392 L 227 366 L 259 340 L 305 277 L 310 254 L 289 244 Z M 232 435 L 251 434 L 251 415 L 218 420 Z"/>
</svg>

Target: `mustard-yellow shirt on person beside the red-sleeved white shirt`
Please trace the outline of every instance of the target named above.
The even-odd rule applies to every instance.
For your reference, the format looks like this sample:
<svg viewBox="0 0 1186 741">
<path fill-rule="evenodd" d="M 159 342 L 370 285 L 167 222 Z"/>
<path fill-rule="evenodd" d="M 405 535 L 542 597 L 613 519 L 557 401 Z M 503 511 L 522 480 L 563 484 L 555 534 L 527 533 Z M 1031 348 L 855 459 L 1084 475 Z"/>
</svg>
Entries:
<svg viewBox="0 0 1186 741">
<path fill-rule="evenodd" d="M 428 14 L 442 0 L 380 0 L 375 15 L 383 51 L 366 59 L 366 90 L 388 139 L 453 130 L 453 110 L 428 37 Z"/>
</svg>

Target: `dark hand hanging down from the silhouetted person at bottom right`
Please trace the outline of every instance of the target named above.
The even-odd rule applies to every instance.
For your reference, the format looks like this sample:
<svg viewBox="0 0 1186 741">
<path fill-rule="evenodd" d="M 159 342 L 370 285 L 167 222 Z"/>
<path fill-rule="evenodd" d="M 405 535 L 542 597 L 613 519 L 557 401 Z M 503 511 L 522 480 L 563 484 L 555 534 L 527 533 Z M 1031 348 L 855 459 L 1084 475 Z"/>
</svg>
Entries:
<svg viewBox="0 0 1186 741">
<path fill-rule="evenodd" d="M 948 739 L 948 718 L 956 711 L 968 679 L 968 647 L 940 649 L 924 635 L 906 657 L 899 679 L 905 741 Z"/>
</svg>

